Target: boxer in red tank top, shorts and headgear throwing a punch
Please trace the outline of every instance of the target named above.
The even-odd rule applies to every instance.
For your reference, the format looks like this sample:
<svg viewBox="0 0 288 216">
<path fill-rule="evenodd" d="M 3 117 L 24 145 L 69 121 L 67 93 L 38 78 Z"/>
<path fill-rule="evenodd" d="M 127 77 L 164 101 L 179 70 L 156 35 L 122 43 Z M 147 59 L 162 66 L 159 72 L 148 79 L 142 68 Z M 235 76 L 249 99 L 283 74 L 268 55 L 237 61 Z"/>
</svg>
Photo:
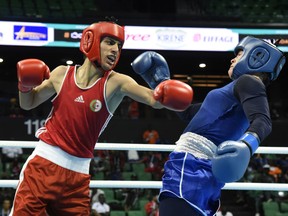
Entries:
<svg viewBox="0 0 288 216">
<path fill-rule="evenodd" d="M 58 66 L 51 73 L 39 59 L 17 64 L 20 106 L 30 110 L 52 96 L 52 110 L 36 132 L 39 143 L 20 174 L 11 215 L 90 215 L 89 164 L 94 147 L 125 96 L 156 109 L 185 110 L 191 87 L 166 80 L 153 91 L 114 71 L 124 28 L 98 22 L 84 29 L 82 65 Z M 158 61 L 155 70 L 166 67 Z"/>
</svg>

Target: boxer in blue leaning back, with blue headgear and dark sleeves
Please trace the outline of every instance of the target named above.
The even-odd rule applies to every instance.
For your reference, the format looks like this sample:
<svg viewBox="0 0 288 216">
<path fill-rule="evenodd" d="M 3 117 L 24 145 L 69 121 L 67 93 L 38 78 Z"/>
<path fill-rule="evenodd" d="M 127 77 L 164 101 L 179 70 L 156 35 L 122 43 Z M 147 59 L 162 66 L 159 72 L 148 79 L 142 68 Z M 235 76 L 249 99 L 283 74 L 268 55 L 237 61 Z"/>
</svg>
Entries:
<svg viewBox="0 0 288 216">
<path fill-rule="evenodd" d="M 236 46 L 235 55 L 228 70 L 232 82 L 178 113 L 188 125 L 164 166 L 160 216 L 215 215 L 225 183 L 244 175 L 271 132 L 266 87 L 286 59 L 276 46 L 250 36 Z M 151 88 L 169 79 L 159 72 L 169 71 L 167 63 L 155 56 L 146 52 L 132 63 Z"/>
</svg>

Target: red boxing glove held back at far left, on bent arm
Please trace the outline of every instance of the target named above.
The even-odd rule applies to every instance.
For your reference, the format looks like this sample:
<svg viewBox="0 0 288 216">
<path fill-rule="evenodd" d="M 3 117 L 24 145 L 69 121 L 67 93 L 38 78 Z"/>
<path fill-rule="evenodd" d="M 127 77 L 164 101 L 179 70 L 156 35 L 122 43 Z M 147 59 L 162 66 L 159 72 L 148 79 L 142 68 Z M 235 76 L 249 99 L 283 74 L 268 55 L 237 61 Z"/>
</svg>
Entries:
<svg viewBox="0 0 288 216">
<path fill-rule="evenodd" d="M 26 93 L 50 76 L 49 67 L 39 59 L 25 59 L 17 63 L 18 89 Z"/>
</svg>

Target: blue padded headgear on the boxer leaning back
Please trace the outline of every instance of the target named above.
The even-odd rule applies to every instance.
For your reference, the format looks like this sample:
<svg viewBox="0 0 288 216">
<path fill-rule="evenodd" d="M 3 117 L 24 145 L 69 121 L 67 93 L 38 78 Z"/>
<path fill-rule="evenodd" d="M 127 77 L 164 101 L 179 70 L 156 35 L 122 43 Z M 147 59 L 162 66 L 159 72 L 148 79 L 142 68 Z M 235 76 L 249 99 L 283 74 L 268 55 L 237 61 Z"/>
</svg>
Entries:
<svg viewBox="0 0 288 216">
<path fill-rule="evenodd" d="M 270 80 L 275 80 L 286 62 L 276 46 L 251 36 L 243 38 L 234 53 L 237 55 L 240 50 L 243 50 L 243 55 L 233 69 L 232 79 L 243 74 L 266 72 L 270 73 Z"/>
</svg>

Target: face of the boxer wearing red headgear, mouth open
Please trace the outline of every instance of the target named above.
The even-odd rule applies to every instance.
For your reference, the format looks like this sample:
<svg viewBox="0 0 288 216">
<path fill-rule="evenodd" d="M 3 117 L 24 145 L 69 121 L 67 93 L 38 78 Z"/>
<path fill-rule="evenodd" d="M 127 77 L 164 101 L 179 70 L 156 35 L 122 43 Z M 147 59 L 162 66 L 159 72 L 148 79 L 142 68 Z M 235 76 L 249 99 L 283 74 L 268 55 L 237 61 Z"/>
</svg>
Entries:
<svg viewBox="0 0 288 216">
<path fill-rule="evenodd" d="M 100 43 L 101 66 L 105 71 L 111 70 L 119 58 L 122 43 L 112 37 L 104 37 Z"/>
</svg>

